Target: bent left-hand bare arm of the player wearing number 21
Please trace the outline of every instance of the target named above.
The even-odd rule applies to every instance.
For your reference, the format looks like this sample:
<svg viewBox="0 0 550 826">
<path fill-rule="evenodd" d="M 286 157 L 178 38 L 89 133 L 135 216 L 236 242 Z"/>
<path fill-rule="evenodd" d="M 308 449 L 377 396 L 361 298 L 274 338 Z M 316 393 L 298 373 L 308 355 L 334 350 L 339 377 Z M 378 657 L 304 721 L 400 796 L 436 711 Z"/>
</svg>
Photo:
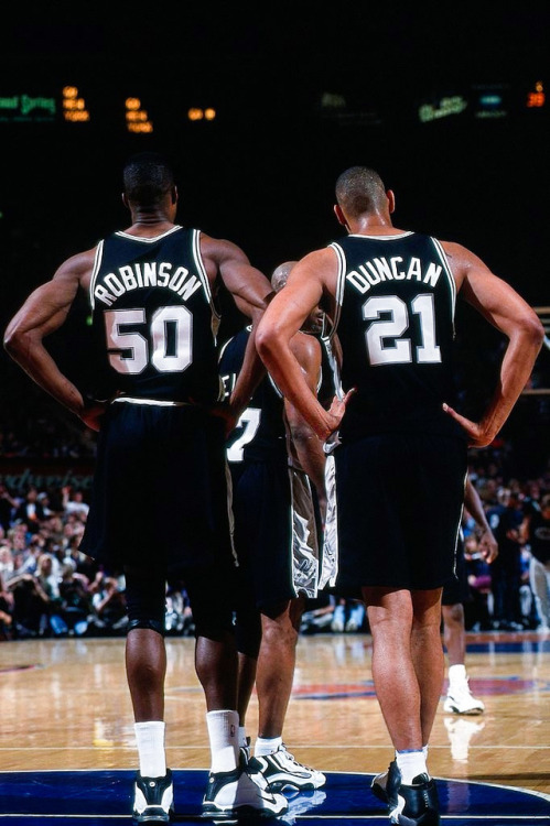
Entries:
<svg viewBox="0 0 550 826">
<path fill-rule="evenodd" d="M 348 395 L 324 410 L 305 381 L 290 348 L 292 337 L 323 296 L 334 294 L 336 257 L 333 250 L 305 256 L 292 270 L 284 286 L 271 301 L 258 326 L 256 344 L 260 357 L 283 395 L 300 411 L 321 439 L 339 425 Z"/>
</svg>

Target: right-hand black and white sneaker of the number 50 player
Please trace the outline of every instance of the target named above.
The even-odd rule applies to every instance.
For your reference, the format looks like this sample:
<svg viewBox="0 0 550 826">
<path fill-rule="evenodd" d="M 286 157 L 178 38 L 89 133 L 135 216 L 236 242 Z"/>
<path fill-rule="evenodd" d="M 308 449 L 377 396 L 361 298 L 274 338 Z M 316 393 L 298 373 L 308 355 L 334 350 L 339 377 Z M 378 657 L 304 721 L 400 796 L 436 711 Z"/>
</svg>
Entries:
<svg viewBox="0 0 550 826">
<path fill-rule="evenodd" d="M 273 794 L 261 776 L 252 776 L 248 768 L 230 772 L 211 772 L 203 798 L 202 816 L 214 820 L 234 819 L 242 815 L 278 817 L 289 804 L 282 794 Z"/>
</svg>

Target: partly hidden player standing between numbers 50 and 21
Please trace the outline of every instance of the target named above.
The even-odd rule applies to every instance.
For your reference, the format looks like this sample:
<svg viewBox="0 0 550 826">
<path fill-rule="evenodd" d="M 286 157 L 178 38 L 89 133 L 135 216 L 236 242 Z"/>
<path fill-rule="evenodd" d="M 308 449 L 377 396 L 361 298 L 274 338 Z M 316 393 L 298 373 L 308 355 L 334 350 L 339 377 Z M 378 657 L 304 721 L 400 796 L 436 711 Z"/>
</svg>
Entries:
<svg viewBox="0 0 550 826">
<path fill-rule="evenodd" d="M 283 289 L 292 263 L 274 270 L 276 292 Z M 313 334 L 321 329 L 317 311 L 291 345 L 315 393 L 322 378 L 322 346 Z M 227 392 L 239 374 L 248 337 L 249 328 L 245 328 L 223 348 L 219 369 Z M 317 594 L 320 536 L 313 497 L 316 491 L 324 511 L 323 447 L 266 376 L 230 434 L 227 459 L 239 561 L 241 747 L 249 759 L 245 722 L 256 681 L 258 737 L 249 764 L 258 767 L 271 789 L 319 789 L 325 783 L 324 774 L 299 763 L 285 748 L 282 733 L 304 599 Z"/>
</svg>

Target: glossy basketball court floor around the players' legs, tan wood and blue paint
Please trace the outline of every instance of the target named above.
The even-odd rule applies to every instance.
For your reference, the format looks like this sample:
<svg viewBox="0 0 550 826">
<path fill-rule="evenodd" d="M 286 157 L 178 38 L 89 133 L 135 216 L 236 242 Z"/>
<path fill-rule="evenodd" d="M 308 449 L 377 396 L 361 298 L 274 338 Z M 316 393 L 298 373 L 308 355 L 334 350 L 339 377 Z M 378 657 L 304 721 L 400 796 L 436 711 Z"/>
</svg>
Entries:
<svg viewBox="0 0 550 826">
<path fill-rule="evenodd" d="M 331 805 L 331 789 L 334 802 L 338 798 L 336 787 L 349 776 L 358 779 L 359 787 L 355 789 L 354 780 L 353 794 L 342 795 L 343 811 L 336 819 L 353 815 L 369 823 L 388 822 L 368 787 L 371 775 L 385 770 L 392 758 L 373 687 L 370 644 L 370 637 L 364 633 L 303 635 L 299 641 L 283 736 L 298 760 L 330 776 L 326 800 L 315 812 L 324 823 L 336 817 L 331 808 L 322 814 Z M 205 703 L 194 672 L 194 641 L 169 638 L 166 648 L 168 761 L 187 778 L 182 784 L 188 785 L 188 778 L 196 780 L 195 794 L 199 796 L 209 749 Z M 82 785 L 97 772 L 101 787 L 107 776 L 116 776 L 123 780 L 125 795 L 129 795 L 137 750 L 123 649 L 123 638 L 0 644 L 0 801 L 10 800 L 0 803 L 0 820 L 9 817 L 13 824 L 17 815 L 18 823 L 30 823 L 31 816 L 36 823 L 44 809 L 36 803 L 33 811 L 32 783 L 50 772 L 61 772 L 67 789 L 69 778 L 79 776 L 77 785 Z M 484 789 L 502 803 L 498 823 L 550 823 L 550 634 L 468 633 L 466 665 L 473 693 L 484 700 L 486 710 L 475 717 L 447 715 L 441 702 L 429 769 L 436 779 L 453 781 L 445 792 L 443 822 L 449 818 L 462 826 L 484 817 L 496 823 L 492 820 L 494 805 L 484 803 L 478 812 L 472 811 L 472 800 Z M 252 697 L 247 720 L 252 739 L 256 724 Z M 26 789 L 25 812 L 4 811 L 17 808 L 10 797 L 13 784 Z M 65 786 L 62 783 L 61 789 Z M 48 793 L 57 795 L 55 803 L 51 801 L 57 818 L 71 814 L 64 808 L 67 798 L 61 789 Z M 507 795 L 513 793 L 516 796 L 508 803 Z M 346 813 L 354 795 L 359 795 L 359 803 Z M 35 792 L 35 802 L 39 797 Z M 119 814 L 111 816 L 129 820 L 129 811 L 125 797 Z M 73 813 L 80 824 L 87 814 L 93 813 Z M 312 815 L 299 813 L 294 819 L 312 819 Z M 105 816 L 96 815 L 96 819 Z M 42 819 L 46 823 L 45 814 Z"/>
</svg>

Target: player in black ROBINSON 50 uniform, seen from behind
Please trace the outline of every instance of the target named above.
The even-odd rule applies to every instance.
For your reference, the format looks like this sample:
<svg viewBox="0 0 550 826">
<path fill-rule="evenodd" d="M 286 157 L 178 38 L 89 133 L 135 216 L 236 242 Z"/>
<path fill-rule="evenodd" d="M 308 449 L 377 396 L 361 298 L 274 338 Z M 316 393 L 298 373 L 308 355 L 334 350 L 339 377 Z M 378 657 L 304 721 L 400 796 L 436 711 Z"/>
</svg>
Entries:
<svg viewBox="0 0 550 826">
<path fill-rule="evenodd" d="M 257 785 L 238 767 L 228 587 L 235 559 L 225 437 L 265 368 L 252 334 L 230 399 L 222 404 L 214 303 L 223 282 L 256 325 L 271 284 L 236 244 L 174 224 L 177 189 L 171 166 L 157 153 L 129 160 L 122 197 L 131 226 L 62 263 L 9 324 L 6 348 L 37 384 L 99 431 L 82 550 L 126 576 L 126 666 L 140 760 L 134 819 L 164 822 L 173 807 L 163 721 L 170 575 L 185 582 L 196 627 L 196 673 L 212 750 L 203 814 L 277 815 L 287 809 L 284 797 L 267 791 L 261 775 Z M 43 343 L 63 324 L 79 291 L 89 300 L 99 354 L 91 401 L 60 371 Z"/>
</svg>

